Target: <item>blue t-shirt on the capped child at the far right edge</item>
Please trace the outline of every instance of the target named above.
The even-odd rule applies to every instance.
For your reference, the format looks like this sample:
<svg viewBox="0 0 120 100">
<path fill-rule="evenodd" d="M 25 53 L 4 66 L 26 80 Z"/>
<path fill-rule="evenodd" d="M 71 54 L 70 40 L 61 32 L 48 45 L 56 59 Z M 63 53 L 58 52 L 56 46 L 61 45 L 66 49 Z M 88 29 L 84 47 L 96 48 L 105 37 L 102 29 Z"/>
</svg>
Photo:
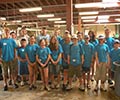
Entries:
<svg viewBox="0 0 120 100">
<path fill-rule="evenodd" d="M 112 49 L 110 51 L 110 58 L 111 58 L 111 65 L 112 65 L 112 69 L 114 68 L 114 61 L 120 61 L 120 48 L 118 49 Z"/>
</svg>

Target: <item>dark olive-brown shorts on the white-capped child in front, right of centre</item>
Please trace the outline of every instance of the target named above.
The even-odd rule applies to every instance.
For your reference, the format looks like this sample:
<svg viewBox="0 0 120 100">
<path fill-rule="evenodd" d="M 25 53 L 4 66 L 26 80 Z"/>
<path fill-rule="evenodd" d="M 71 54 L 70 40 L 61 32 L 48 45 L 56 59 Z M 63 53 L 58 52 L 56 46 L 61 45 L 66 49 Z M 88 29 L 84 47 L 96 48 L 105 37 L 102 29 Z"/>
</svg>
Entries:
<svg viewBox="0 0 120 100">
<path fill-rule="evenodd" d="M 69 74 L 70 78 L 72 78 L 74 75 L 76 75 L 77 77 L 81 77 L 82 76 L 82 67 L 70 65 L 68 74 Z"/>
</svg>

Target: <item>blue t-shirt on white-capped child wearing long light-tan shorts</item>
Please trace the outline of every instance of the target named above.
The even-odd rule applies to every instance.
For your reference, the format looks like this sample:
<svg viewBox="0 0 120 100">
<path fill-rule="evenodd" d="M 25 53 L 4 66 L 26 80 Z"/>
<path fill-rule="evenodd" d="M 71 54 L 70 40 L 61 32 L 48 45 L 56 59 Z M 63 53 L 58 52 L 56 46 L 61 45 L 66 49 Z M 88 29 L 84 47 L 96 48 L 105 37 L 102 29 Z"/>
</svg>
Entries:
<svg viewBox="0 0 120 100">
<path fill-rule="evenodd" d="M 98 54 L 98 60 L 99 62 L 107 62 L 108 59 L 107 59 L 107 54 L 109 53 L 109 47 L 107 44 L 98 44 L 96 46 L 96 52 Z"/>
</svg>

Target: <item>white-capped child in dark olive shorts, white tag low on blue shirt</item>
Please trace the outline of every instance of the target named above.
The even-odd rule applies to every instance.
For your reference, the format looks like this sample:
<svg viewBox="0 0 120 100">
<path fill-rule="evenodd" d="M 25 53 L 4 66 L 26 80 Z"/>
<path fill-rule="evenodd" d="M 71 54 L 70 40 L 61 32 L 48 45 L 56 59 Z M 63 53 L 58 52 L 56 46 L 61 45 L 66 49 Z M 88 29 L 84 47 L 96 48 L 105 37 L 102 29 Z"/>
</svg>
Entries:
<svg viewBox="0 0 120 100">
<path fill-rule="evenodd" d="M 67 90 L 72 89 L 72 77 L 74 74 L 79 78 L 80 86 L 81 86 L 81 76 L 82 76 L 82 67 L 83 64 L 83 49 L 80 44 L 78 44 L 77 35 L 73 35 L 72 37 L 73 44 L 70 46 L 69 55 L 68 55 L 68 64 L 69 66 L 69 85 L 66 88 Z"/>
</svg>

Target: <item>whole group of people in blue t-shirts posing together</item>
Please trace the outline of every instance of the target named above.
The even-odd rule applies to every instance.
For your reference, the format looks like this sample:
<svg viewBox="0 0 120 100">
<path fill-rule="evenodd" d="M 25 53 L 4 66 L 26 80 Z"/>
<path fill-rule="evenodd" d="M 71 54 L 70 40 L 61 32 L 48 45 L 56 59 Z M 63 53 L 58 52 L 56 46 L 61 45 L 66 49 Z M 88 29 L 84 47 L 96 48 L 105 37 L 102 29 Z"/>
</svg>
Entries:
<svg viewBox="0 0 120 100">
<path fill-rule="evenodd" d="M 36 89 L 38 72 L 43 83 L 41 90 L 47 91 L 60 88 L 61 73 L 64 91 L 73 88 L 74 76 L 79 79 L 79 89 L 82 91 L 85 87 L 91 88 L 90 80 L 93 77 L 97 82 L 95 90 L 98 90 L 99 80 L 101 89 L 106 90 L 106 80 L 114 79 L 113 62 L 120 61 L 120 42 L 110 37 L 108 28 L 98 38 L 94 31 L 89 31 L 88 35 L 81 32 L 71 35 L 65 31 L 61 37 L 60 30 L 56 30 L 50 36 L 46 28 L 42 28 L 37 37 L 28 36 L 25 27 L 20 34 L 17 37 L 15 32 L 5 28 L 4 38 L 0 39 L 4 91 L 8 90 L 8 79 L 14 88 L 19 87 L 17 75 L 21 77 L 21 86 L 25 85 L 25 80 L 29 80 L 29 90 Z"/>
</svg>

